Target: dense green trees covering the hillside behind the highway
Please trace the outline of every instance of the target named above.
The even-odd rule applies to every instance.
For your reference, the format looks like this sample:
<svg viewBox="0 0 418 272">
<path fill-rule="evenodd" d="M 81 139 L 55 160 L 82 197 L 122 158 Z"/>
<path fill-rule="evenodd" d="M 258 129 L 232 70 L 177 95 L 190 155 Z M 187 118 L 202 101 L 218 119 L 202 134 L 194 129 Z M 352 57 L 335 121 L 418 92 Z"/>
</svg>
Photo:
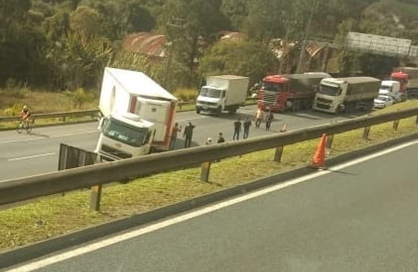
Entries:
<svg viewBox="0 0 418 272">
<path fill-rule="evenodd" d="M 359 31 L 417 41 L 418 14 L 394 9 L 398 1 L 418 5 L 416 0 L 0 0 L 0 85 L 11 80 L 50 90 L 96 88 L 107 65 L 140 69 L 161 83 L 169 71 L 170 89 L 194 86 L 209 73 L 257 80 L 278 67 L 269 49 L 275 38 L 301 41 L 309 34 L 338 40 Z M 222 30 L 248 38 L 216 43 Z M 169 67 L 121 50 L 121 41 L 140 31 L 167 35 Z M 355 66 L 376 73 L 373 64 L 396 62 L 344 51 L 338 61 L 346 73 Z"/>
</svg>

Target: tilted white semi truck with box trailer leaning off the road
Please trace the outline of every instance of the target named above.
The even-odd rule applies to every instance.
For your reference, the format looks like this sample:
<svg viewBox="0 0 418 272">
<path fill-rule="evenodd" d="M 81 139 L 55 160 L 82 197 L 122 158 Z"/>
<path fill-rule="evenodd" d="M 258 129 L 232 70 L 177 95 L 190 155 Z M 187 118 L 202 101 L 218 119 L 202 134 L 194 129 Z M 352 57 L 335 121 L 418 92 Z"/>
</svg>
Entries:
<svg viewBox="0 0 418 272">
<path fill-rule="evenodd" d="M 102 160 L 168 150 L 177 99 L 142 72 L 105 68 L 100 92 Z"/>
</svg>

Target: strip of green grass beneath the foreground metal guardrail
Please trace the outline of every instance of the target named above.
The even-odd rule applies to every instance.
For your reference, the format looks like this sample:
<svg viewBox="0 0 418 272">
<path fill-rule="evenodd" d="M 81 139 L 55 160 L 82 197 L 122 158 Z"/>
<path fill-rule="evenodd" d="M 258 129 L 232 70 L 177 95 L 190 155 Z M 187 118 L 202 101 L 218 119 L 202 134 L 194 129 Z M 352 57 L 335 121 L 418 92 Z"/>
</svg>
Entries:
<svg viewBox="0 0 418 272">
<path fill-rule="evenodd" d="M 409 101 L 375 114 L 417 107 L 417 104 L 417 101 Z M 368 140 L 362 139 L 362 129 L 336 135 L 331 156 L 416 132 L 415 120 L 415 117 L 402 120 L 396 132 L 392 129 L 392 123 L 374 126 Z M 281 163 L 273 161 L 274 149 L 224 159 L 212 164 L 210 183 L 200 181 L 200 168 L 197 167 L 135 179 L 126 185 L 108 186 L 103 190 L 100 212 L 89 209 L 90 192 L 86 190 L 9 207 L 0 211 L 0 250 L 12 249 L 307 165 L 317 144 L 318 139 L 315 139 L 285 146 Z"/>
</svg>

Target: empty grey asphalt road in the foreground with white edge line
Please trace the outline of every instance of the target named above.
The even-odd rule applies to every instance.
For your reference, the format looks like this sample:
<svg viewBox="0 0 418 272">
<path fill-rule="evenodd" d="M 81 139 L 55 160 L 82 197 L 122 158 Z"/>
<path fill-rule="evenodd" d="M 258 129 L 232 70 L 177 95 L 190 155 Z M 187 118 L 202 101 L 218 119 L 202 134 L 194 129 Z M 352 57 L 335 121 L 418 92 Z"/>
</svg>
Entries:
<svg viewBox="0 0 418 272">
<path fill-rule="evenodd" d="M 416 271 L 417 153 L 364 157 L 13 272 Z"/>
</svg>

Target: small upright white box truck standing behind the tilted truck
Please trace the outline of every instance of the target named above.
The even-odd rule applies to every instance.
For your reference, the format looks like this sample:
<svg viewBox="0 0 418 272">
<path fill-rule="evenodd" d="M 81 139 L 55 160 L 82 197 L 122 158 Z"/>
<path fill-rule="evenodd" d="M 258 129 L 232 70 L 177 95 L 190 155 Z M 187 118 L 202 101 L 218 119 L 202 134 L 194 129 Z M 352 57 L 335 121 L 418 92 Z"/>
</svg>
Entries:
<svg viewBox="0 0 418 272">
<path fill-rule="evenodd" d="M 196 101 L 196 112 L 220 114 L 222 111 L 236 113 L 245 105 L 250 79 L 239 75 L 211 75 L 206 78 Z"/>
</svg>

